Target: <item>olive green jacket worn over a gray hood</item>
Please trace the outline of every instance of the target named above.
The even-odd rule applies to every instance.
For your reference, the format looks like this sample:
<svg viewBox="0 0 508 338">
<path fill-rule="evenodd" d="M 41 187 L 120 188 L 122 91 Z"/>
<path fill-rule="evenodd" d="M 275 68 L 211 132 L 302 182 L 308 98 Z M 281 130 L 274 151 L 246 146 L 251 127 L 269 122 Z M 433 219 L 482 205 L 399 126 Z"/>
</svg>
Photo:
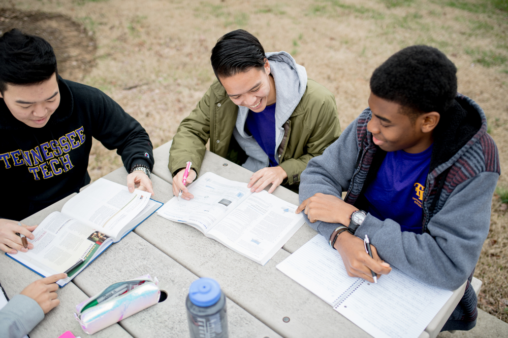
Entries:
<svg viewBox="0 0 508 338">
<path fill-rule="evenodd" d="M 208 139 L 212 153 L 241 165 L 245 154 L 232 137 L 237 113 L 238 106 L 215 80 L 196 108 L 180 123 L 173 138 L 168 164 L 172 175 L 190 161 L 199 176 Z M 292 185 L 300 182 L 300 174 L 309 160 L 323 154 L 340 135 L 335 97 L 309 79 L 300 103 L 283 128 L 284 137 L 278 148 L 279 166 L 288 174 L 282 184 Z"/>
</svg>

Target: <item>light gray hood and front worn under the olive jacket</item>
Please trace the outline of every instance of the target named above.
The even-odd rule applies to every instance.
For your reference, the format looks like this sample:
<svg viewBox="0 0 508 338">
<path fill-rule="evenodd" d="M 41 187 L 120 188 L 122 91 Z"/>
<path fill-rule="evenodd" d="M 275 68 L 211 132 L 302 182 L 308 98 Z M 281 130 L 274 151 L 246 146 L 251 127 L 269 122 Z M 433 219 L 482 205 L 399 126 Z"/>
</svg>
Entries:
<svg viewBox="0 0 508 338">
<path fill-rule="evenodd" d="M 273 52 L 265 55 L 275 81 L 275 154 L 277 154 L 277 148 L 284 137 L 282 125 L 291 117 L 307 88 L 307 71 L 287 52 Z M 233 136 L 248 156 L 242 166 L 256 172 L 268 167 L 269 159 L 256 139 L 248 136 L 244 131 L 248 112 L 248 107 L 238 106 Z M 278 162 L 277 156 L 275 160 Z"/>
</svg>

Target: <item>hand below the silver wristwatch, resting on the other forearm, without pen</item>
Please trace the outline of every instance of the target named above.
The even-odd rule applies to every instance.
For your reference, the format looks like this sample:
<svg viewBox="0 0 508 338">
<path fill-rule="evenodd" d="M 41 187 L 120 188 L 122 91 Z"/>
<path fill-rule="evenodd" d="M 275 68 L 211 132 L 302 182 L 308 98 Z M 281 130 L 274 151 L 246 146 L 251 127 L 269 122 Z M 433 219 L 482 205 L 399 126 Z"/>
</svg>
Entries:
<svg viewBox="0 0 508 338">
<path fill-rule="evenodd" d="M 303 201 L 295 213 L 300 213 L 302 210 L 304 210 L 311 223 L 321 220 L 347 226 L 350 223 L 351 214 L 357 211 L 358 208 L 347 204 L 336 196 L 317 193 Z"/>
</svg>

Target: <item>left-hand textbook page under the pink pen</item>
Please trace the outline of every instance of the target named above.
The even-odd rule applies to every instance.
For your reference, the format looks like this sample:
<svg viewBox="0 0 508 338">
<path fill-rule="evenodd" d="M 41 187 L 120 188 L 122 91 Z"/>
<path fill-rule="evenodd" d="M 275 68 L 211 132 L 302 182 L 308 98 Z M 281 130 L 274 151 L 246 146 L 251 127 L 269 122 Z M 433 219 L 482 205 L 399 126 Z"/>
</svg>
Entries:
<svg viewBox="0 0 508 338">
<path fill-rule="evenodd" d="M 187 201 L 173 197 L 157 214 L 176 222 L 187 223 L 207 233 L 220 219 L 251 195 L 247 183 L 232 181 L 206 172 L 188 186 L 194 198 Z"/>
</svg>

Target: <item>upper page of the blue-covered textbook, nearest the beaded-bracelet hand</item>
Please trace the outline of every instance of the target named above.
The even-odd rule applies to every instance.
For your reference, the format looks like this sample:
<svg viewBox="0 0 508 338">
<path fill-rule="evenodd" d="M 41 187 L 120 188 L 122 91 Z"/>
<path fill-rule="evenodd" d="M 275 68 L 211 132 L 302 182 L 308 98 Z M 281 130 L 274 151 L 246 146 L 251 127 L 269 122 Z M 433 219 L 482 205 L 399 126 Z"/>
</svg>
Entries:
<svg viewBox="0 0 508 338">
<path fill-rule="evenodd" d="M 99 178 L 63 205 L 62 213 L 120 239 L 126 225 L 147 205 L 151 194 Z"/>
</svg>

